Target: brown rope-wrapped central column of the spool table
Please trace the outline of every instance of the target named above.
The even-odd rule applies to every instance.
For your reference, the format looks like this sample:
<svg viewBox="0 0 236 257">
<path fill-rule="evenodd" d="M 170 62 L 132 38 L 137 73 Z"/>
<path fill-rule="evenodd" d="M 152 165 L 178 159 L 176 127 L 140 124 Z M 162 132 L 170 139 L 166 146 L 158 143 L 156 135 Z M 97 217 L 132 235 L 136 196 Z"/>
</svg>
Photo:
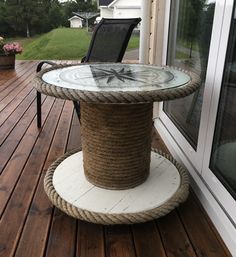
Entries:
<svg viewBox="0 0 236 257">
<path fill-rule="evenodd" d="M 81 103 L 84 173 L 106 189 L 127 189 L 146 180 L 150 168 L 152 103 Z"/>
</svg>

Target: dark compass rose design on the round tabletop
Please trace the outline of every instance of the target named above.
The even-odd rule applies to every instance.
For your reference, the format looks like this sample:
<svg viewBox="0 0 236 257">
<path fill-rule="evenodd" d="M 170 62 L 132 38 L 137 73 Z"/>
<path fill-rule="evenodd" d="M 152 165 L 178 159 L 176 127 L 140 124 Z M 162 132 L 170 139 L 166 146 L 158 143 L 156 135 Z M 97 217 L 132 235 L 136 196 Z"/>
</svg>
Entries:
<svg viewBox="0 0 236 257">
<path fill-rule="evenodd" d="M 76 89 L 141 91 L 172 87 L 175 73 L 166 68 L 145 65 L 89 64 L 63 70 L 59 80 Z"/>
</svg>

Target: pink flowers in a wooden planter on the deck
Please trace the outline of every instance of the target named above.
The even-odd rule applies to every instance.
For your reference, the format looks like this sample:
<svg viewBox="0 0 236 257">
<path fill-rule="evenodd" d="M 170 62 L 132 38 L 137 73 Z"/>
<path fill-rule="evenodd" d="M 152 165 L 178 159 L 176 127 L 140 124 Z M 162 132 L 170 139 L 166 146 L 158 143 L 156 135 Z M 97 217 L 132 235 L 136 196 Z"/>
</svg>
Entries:
<svg viewBox="0 0 236 257">
<path fill-rule="evenodd" d="M 18 42 L 5 43 L 0 37 L 0 70 L 15 68 L 15 55 L 22 53 L 23 48 Z"/>
</svg>

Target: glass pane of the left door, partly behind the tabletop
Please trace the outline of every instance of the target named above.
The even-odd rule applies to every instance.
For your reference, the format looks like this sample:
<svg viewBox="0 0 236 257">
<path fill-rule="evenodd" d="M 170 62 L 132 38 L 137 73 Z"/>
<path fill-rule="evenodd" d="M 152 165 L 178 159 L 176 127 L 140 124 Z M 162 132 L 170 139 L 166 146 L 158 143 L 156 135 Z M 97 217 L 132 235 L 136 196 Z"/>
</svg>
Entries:
<svg viewBox="0 0 236 257">
<path fill-rule="evenodd" d="M 196 149 L 215 1 L 177 0 L 171 3 L 168 65 L 192 70 L 202 79 L 194 94 L 166 102 L 164 111 Z"/>
</svg>

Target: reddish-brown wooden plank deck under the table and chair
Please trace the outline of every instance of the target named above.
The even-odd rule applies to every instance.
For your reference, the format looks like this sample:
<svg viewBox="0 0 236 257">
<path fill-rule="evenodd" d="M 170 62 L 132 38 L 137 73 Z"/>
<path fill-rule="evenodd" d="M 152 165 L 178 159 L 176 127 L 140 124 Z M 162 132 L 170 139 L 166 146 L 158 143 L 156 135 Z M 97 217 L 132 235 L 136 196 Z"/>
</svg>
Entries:
<svg viewBox="0 0 236 257">
<path fill-rule="evenodd" d="M 89 224 L 54 208 L 43 177 L 57 157 L 80 146 L 80 125 L 70 101 L 43 96 L 37 129 L 36 64 L 0 71 L 1 257 L 231 256 L 193 193 L 167 216 L 137 225 Z M 155 131 L 153 145 L 165 150 Z"/>
</svg>

